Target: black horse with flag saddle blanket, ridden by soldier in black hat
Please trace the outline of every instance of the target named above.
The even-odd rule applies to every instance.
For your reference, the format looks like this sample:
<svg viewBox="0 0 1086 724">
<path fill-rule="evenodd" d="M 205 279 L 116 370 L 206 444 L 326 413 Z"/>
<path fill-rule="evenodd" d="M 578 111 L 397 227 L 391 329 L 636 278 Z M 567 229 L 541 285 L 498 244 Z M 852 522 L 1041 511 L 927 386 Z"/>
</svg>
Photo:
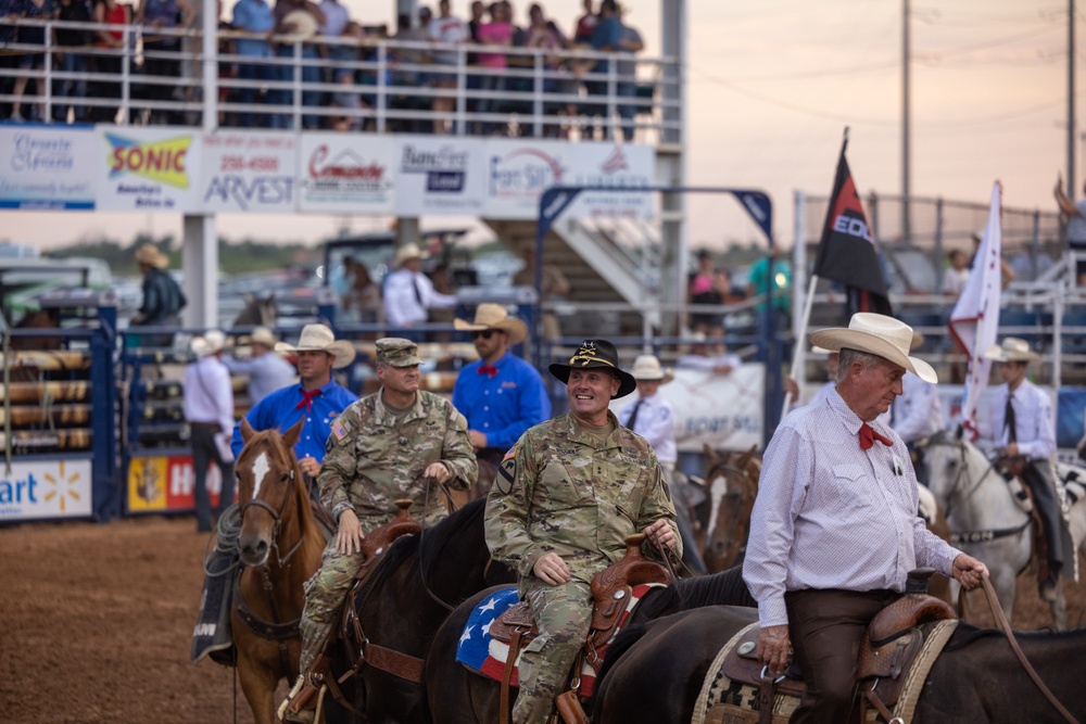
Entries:
<svg viewBox="0 0 1086 724">
<path fill-rule="evenodd" d="M 433 637 L 430 656 L 426 661 L 427 721 L 434 724 L 493 724 L 498 721 L 498 683 L 470 672 L 455 661 L 456 645 L 468 617 L 494 590 L 484 590 L 457 607 Z M 681 579 L 671 586 L 653 588 L 630 614 L 628 625 L 636 625 L 677 611 L 718 605 L 755 606 L 755 600 L 743 583 L 741 569 Z M 653 720 L 634 715 L 626 721 Z"/>
</svg>

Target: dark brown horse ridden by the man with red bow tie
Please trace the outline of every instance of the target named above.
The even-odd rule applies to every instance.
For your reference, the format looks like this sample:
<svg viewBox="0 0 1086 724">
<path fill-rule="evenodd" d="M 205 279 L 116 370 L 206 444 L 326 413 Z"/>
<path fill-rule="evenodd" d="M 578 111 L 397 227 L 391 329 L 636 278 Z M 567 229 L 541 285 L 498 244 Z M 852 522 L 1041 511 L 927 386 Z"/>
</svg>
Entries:
<svg viewBox="0 0 1086 724">
<path fill-rule="evenodd" d="M 593 702 L 594 724 L 685 724 L 709 666 L 757 611 L 706 608 L 654 621 L 607 652 Z M 1086 630 L 1020 634 L 1019 644 L 1057 699 L 1086 712 Z M 718 721 L 707 719 L 706 721 Z M 756 721 L 756 720 L 750 720 Z M 1064 722 L 1018 662 L 1002 632 L 959 623 L 927 675 L 915 724 Z"/>
</svg>

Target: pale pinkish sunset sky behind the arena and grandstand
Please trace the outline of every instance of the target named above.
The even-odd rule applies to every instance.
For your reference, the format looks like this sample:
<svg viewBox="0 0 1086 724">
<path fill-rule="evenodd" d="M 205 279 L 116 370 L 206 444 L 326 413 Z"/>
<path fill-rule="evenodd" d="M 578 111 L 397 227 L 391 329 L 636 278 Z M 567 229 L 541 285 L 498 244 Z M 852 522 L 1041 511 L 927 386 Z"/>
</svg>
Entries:
<svg viewBox="0 0 1086 724">
<path fill-rule="evenodd" d="M 646 56 L 659 54 L 660 1 L 626 3 Z M 364 23 L 392 21 L 392 2 L 346 4 Z M 543 2 L 567 30 L 580 4 Z M 456 13 L 466 5 L 453 0 Z M 517 22 L 527 8 L 515 0 Z M 689 183 L 766 190 L 776 238 L 791 245 L 793 194 L 829 193 L 847 125 L 860 192 L 900 192 L 900 0 L 690 0 L 689 8 Z M 1066 3 L 1050 0 L 912 5 L 914 194 L 986 203 L 999 179 L 1005 205 L 1055 211 L 1052 186 L 1066 165 Z M 1084 25 L 1079 11 L 1076 35 Z M 1075 158 L 1081 181 L 1081 150 Z M 730 203 L 696 199 L 689 211 L 695 247 L 757 238 Z M 340 225 L 363 231 L 387 224 L 224 215 L 218 230 L 230 239 L 317 243 Z M 0 213 L 0 239 L 43 249 L 103 234 L 127 241 L 139 230 L 179 236 L 179 217 L 169 215 Z"/>
</svg>

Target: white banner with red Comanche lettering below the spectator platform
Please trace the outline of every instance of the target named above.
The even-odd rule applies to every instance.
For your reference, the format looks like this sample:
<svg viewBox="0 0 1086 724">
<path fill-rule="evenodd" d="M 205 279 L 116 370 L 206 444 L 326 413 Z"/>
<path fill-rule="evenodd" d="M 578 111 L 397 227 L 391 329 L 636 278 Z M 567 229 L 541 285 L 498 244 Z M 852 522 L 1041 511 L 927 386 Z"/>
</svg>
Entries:
<svg viewBox="0 0 1086 724">
<path fill-rule="evenodd" d="M 399 149 L 387 137 L 304 134 L 298 211 L 393 214 Z"/>
</svg>

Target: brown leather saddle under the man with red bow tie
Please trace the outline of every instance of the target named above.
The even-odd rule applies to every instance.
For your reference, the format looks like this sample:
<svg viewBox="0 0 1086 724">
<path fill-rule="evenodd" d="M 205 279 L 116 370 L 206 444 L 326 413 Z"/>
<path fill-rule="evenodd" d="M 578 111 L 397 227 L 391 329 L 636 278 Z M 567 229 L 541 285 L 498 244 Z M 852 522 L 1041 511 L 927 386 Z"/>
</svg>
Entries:
<svg viewBox="0 0 1086 724">
<path fill-rule="evenodd" d="M 921 626 L 925 623 L 956 618 L 954 609 L 942 599 L 929 596 L 926 580 L 934 571 L 919 569 L 909 573 L 909 588 L 901 598 L 880 611 L 868 626 L 860 645 L 857 679 L 861 683 L 857 696 L 880 709 L 893 707 L 901 694 L 906 674 L 924 643 Z M 918 583 L 920 582 L 920 583 Z M 912 593 L 915 592 L 915 593 Z M 752 626 L 724 657 L 721 670 L 733 682 L 752 685 L 760 690 L 761 721 L 770 721 L 772 696 L 786 694 L 799 698 L 807 690 L 798 665 L 790 662 L 778 679 L 763 677 L 765 668 L 758 662 L 758 627 Z M 877 686 L 875 686 L 877 684 Z M 877 694 L 875 694 L 877 690 Z M 872 699 L 872 695 L 875 700 Z M 768 706 L 767 706 L 768 704 Z M 880 707 L 882 704 L 882 707 Z M 886 716 L 887 721 L 889 717 Z"/>
</svg>

